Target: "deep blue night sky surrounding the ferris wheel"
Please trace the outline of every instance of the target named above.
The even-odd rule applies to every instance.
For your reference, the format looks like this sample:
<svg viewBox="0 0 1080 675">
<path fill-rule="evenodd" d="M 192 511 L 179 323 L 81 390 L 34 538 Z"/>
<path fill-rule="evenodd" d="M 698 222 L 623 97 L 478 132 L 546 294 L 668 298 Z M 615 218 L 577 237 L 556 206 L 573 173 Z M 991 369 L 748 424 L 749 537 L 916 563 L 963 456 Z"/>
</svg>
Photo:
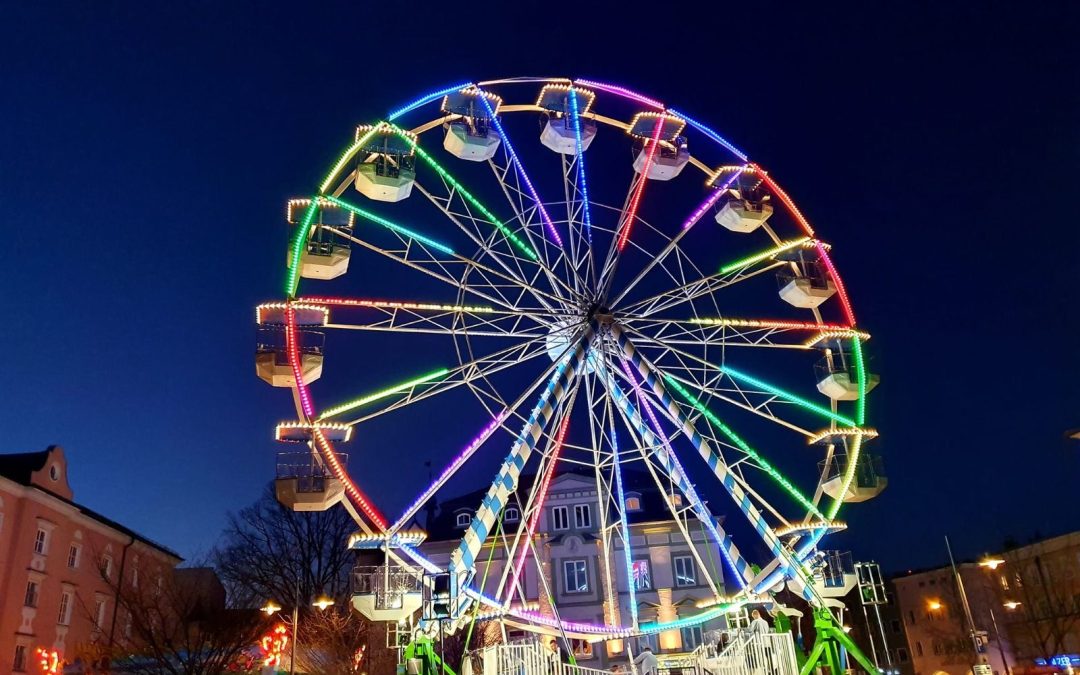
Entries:
<svg viewBox="0 0 1080 675">
<path fill-rule="evenodd" d="M 842 243 L 891 485 L 840 543 L 899 569 L 1080 525 L 1075 3 L 308 4 L 0 10 L 0 451 L 62 444 L 77 499 L 204 551 L 288 415 L 252 363 L 284 200 L 418 93 L 593 77 L 707 120 Z"/>
</svg>

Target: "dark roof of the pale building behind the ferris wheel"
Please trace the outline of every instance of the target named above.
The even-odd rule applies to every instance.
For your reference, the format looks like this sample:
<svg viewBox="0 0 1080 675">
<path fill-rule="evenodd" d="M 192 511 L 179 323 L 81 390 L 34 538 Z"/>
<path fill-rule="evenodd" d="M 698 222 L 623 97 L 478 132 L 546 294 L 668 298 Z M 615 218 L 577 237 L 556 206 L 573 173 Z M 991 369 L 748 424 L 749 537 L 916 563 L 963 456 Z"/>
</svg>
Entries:
<svg viewBox="0 0 1080 675">
<path fill-rule="evenodd" d="M 552 480 L 553 486 L 559 478 L 567 476 L 579 476 L 588 478 L 591 482 L 595 481 L 593 469 L 583 469 L 573 465 L 559 467 L 558 473 Z M 536 473 L 522 474 L 517 482 L 519 494 L 527 494 L 536 477 Z M 642 503 L 639 510 L 626 512 L 627 524 L 636 525 L 639 523 L 671 521 L 671 512 L 664 502 L 663 495 L 661 495 L 660 489 L 648 472 L 623 468 L 622 484 L 623 494 L 626 496 L 638 496 Z M 428 532 L 428 541 L 460 539 L 464 534 L 464 528 L 458 526 L 457 514 L 468 512 L 472 515 L 475 513 L 487 490 L 488 488 L 485 487 L 440 502 L 437 513 L 433 518 L 429 519 L 424 528 Z M 512 498 L 510 503 L 516 502 Z M 517 504 L 517 507 L 521 509 L 522 504 Z M 517 524 L 508 524 L 503 521 L 502 529 L 508 532 L 516 531 L 519 522 Z"/>
</svg>

